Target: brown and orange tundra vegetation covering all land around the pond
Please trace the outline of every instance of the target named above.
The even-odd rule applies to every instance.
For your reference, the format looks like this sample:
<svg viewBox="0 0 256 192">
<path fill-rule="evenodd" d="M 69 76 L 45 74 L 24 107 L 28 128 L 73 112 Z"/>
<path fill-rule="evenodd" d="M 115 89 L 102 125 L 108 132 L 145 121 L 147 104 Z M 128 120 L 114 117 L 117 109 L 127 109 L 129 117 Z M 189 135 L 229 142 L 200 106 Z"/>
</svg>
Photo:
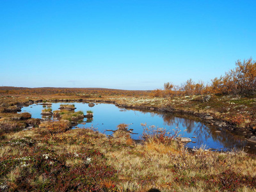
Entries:
<svg viewBox="0 0 256 192">
<path fill-rule="evenodd" d="M 71 121 L 84 116 L 81 111 L 53 111 L 58 121 L 17 113 L 20 106 L 42 101 L 99 100 L 209 114 L 253 136 L 256 64 L 250 59 L 236 65 L 210 85 L 189 79 L 179 88 L 166 83 L 153 92 L 1 87 L 0 191 L 255 191 L 256 156 L 243 151 L 188 150 L 177 132 L 147 124 L 141 142 L 131 139 L 126 124 L 113 137 L 93 127 L 70 129 Z"/>
</svg>

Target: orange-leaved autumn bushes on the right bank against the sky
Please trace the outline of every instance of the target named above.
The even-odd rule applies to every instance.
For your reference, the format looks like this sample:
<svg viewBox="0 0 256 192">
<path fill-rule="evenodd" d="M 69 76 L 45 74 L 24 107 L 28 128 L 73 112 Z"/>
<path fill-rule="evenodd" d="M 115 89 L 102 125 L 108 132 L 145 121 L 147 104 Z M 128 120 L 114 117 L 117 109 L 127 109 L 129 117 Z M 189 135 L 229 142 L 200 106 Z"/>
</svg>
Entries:
<svg viewBox="0 0 256 192">
<path fill-rule="evenodd" d="M 243 62 L 237 60 L 236 68 L 225 73 L 225 76 L 216 77 L 211 84 L 204 84 L 202 81 L 195 83 L 188 79 L 180 86 L 172 83 L 164 83 L 164 90 L 154 90 L 153 97 L 172 97 L 184 95 L 205 95 L 205 94 L 233 94 L 253 95 L 256 92 L 256 62 L 250 58 Z"/>
</svg>

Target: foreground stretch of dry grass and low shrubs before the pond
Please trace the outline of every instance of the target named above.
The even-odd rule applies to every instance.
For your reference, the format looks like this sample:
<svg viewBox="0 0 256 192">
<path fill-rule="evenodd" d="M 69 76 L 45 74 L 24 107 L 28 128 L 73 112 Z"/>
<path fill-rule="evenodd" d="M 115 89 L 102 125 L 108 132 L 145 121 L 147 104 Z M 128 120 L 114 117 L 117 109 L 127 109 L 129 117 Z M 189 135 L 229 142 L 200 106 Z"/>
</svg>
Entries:
<svg viewBox="0 0 256 192">
<path fill-rule="evenodd" d="M 30 141 L 31 138 L 33 141 Z M 53 173 L 54 169 L 61 168 L 59 166 L 63 164 L 65 166 L 60 169 L 60 174 L 66 174 L 67 179 L 71 176 L 67 174 L 73 174 L 73 170 L 77 168 L 83 167 L 87 172 L 84 173 L 90 173 L 90 177 L 94 178 L 94 181 L 91 180 L 92 183 L 84 182 L 83 178 L 80 180 L 83 189 L 86 190 L 97 188 L 103 191 L 147 191 L 157 188 L 161 191 L 229 191 L 229 189 L 253 191 L 255 189 L 253 186 L 256 184 L 255 156 L 244 152 L 218 153 L 203 149 L 189 152 L 186 148 L 180 147 L 177 141 L 172 143 L 165 141 L 149 138 L 142 145 L 134 143 L 130 138 L 107 138 L 104 134 L 91 129 L 74 129 L 56 133 L 54 136 L 45 132 L 44 128 L 7 133 L 1 141 L 0 158 L 1 162 L 9 163 L 5 163 L 7 168 L 3 163 L 1 164 L 4 175 L 0 177 L 0 183 L 9 184 L 8 190 L 13 191 L 17 189 L 24 191 L 25 186 L 26 188 L 29 186 L 30 189 L 63 188 L 58 183 L 58 177 L 52 183 L 53 178 L 42 172 L 47 168 Z M 30 145 L 29 142 L 32 144 Z M 41 159 L 33 160 L 38 157 Z M 31 159 L 28 160 L 29 158 Z M 42 163 L 45 161 L 43 163 L 45 168 L 44 166 L 37 168 L 35 172 L 33 169 L 37 161 Z M 97 177 L 95 173 L 98 171 L 95 172 L 94 168 L 99 170 L 106 168 L 104 173 L 106 175 Z M 24 172 L 28 174 L 26 177 L 29 178 L 29 182 L 22 181 L 24 185 L 22 187 L 18 182 L 24 179 Z M 80 172 L 76 171 L 74 174 L 76 176 L 73 179 L 81 177 Z M 72 180 L 72 177 L 69 179 Z M 71 185 L 70 182 L 68 183 Z"/>
</svg>

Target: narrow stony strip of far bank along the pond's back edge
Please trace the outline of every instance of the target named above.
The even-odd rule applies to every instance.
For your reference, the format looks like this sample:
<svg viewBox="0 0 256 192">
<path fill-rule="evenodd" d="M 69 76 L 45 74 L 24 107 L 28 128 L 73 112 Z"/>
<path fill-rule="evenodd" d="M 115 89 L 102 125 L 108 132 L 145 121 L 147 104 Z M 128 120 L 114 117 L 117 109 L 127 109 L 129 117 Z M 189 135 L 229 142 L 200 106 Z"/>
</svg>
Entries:
<svg viewBox="0 0 256 192">
<path fill-rule="evenodd" d="M 52 96 L 53 97 L 53 96 Z M 175 108 L 175 106 L 166 106 L 166 103 L 163 106 L 156 106 L 155 104 L 152 105 L 152 102 L 154 102 L 154 99 L 148 99 L 150 100 L 150 103 L 148 104 L 134 104 L 131 103 L 131 99 L 134 99 L 134 97 L 127 97 L 125 98 L 127 102 L 125 103 L 123 100 L 120 100 L 120 98 L 107 98 L 107 99 L 30 99 L 29 101 L 25 102 L 19 102 L 17 104 L 17 108 L 20 108 L 21 106 L 28 106 L 30 104 L 37 104 L 46 102 L 47 104 L 49 102 L 85 102 L 85 103 L 105 103 L 105 104 L 115 104 L 118 108 L 125 108 L 125 109 L 132 109 L 132 110 L 138 110 L 138 111 L 147 111 L 147 112 L 159 112 L 159 113 L 172 113 L 174 115 L 189 115 L 188 118 L 200 118 L 200 121 L 205 122 L 209 125 L 215 125 L 219 127 L 220 129 L 228 130 L 234 134 L 237 134 L 239 136 L 244 136 L 246 140 L 250 139 L 254 136 L 255 131 L 253 129 L 248 129 L 244 127 L 237 127 L 237 125 L 232 124 L 231 122 L 228 122 L 226 120 L 223 120 L 223 118 L 216 118 L 211 113 L 207 113 L 207 111 L 203 112 L 196 112 L 193 109 L 191 110 L 184 110 Z M 44 101 L 44 102 L 43 102 Z"/>
</svg>

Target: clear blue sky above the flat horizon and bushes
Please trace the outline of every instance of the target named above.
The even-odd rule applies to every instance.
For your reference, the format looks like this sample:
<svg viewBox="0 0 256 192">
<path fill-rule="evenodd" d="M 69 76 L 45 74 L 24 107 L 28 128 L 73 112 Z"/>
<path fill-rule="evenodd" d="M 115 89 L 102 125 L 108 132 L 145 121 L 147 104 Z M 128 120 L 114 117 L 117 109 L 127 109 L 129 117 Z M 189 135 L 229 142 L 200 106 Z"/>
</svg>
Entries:
<svg viewBox="0 0 256 192">
<path fill-rule="evenodd" d="M 0 86 L 209 83 L 256 60 L 255 10 L 255 0 L 0 0 Z"/>
</svg>

